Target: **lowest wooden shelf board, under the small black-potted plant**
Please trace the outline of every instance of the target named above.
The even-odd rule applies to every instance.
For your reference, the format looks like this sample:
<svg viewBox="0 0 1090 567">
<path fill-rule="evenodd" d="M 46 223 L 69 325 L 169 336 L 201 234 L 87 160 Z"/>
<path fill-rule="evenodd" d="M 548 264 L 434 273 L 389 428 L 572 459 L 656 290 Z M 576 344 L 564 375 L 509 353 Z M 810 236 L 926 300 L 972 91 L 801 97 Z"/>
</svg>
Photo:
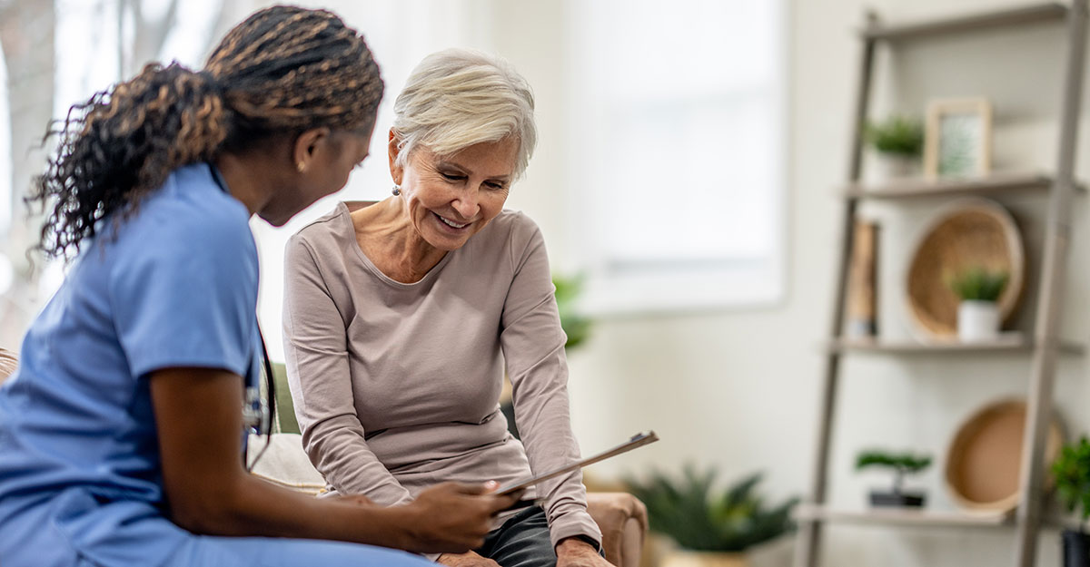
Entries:
<svg viewBox="0 0 1090 567">
<path fill-rule="evenodd" d="M 834 509 L 802 504 L 795 509 L 799 521 L 861 523 L 867 526 L 916 526 L 920 528 L 1004 528 L 1015 525 L 1013 514 L 931 509 L 870 508 Z"/>
</svg>

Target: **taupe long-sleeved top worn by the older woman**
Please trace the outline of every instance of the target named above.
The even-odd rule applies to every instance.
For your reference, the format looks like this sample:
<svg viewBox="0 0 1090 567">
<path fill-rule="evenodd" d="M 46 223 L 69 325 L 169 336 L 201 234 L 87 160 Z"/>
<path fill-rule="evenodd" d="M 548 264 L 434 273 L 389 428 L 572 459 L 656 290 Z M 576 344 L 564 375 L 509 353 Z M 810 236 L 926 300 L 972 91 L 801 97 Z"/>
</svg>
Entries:
<svg viewBox="0 0 1090 567">
<path fill-rule="evenodd" d="M 520 212 L 404 284 L 363 254 L 340 204 L 288 243 L 283 324 L 303 446 L 336 491 L 395 505 L 579 458 L 545 243 Z M 505 361 L 522 443 L 499 411 Z M 581 477 L 538 491 L 554 546 L 602 541 Z"/>
</svg>

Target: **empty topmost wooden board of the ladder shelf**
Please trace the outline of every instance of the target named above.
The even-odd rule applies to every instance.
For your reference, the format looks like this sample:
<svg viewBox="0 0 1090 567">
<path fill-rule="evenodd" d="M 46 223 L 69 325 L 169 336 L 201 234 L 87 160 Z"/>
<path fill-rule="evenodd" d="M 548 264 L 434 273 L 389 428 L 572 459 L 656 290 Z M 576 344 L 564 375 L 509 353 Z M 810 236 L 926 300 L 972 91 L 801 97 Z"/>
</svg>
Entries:
<svg viewBox="0 0 1090 567">
<path fill-rule="evenodd" d="M 1067 17 L 1069 11 L 1070 9 L 1065 4 L 1045 2 L 907 24 L 877 24 L 863 28 L 861 35 L 863 38 L 872 40 L 904 41 L 995 27 L 1062 22 Z"/>
</svg>

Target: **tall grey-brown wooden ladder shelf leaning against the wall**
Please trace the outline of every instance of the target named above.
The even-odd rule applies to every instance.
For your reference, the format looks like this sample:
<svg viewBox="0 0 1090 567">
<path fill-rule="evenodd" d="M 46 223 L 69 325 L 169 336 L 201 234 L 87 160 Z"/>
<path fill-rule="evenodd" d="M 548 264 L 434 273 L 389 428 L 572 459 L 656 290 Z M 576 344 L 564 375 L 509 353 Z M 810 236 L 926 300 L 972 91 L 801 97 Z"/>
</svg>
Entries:
<svg viewBox="0 0 1090 567">
<path fill-rule="evenodd" d="M 1070 201 L 1083 189 L 1075 181 L 1075 148 L 1078 128 L 1079 102 L 1082 89 L 1086 54 L 1086 25 L 1088 0 L 1071 3 L 1056 2 L 1031 4 L 1024 8 L 1003 9 L 979 14 L 910 23 L 884 25 L 871 14 L 860 32 L 862 51 L 856 111 L 852 118 L 851 158 L 848 182 L 843 188 L 844 224 L 836 296 L 826 361 L 821 389 L 816 451 L 810 492 L 796 515 L 799 521 L 796 567 L 816 567 L 819 564 L 822 529 L 827 523 L 883 525 L 891 527 L 959 527 L 981 529 L 1013 529 L 1015 535 L 1015 567 L 1032 567 L 1036 559 L 1038 532 L 1042 526 L 1041 508 L 1044 480 L 1044 441 L 1052 417 L 1053 378 L 1061 353 L 1081 354 L 1083 347 L 1062 342 L 1058 337 L 1061 296 L 1067 273 L 1067 248 L 1070 237 Z M 936 36 L 952 36 L 981 29 L 1014 27 L 1033 23 L 1066 24 L 1067 48 L 1064 83 L 1061 85 L 1059 144 L 1056 170 L 1047 173 L 1006 173 L 982 178 L 929 182 L 906 180 L 885 185 L 860 182 L 862 172 L 862 131 L 869 109 L 871 82 L 874 71 L 875 49 L 880 44 L 896 48 L 900 42 L 917 41 Z M 954 197 L 988 195 L 1004 192 L 1038 192 L 1049 202 L 1049 219 L 1042 247 L 1042 264 L 1037 301 L 1037 319 L 1030 336 L 1020 333 L 1005 334 L 997 341 L 984 344 L 962 343 L 909 343 L 884 340 L 852 340 L 843 336 L 845 304 L 847 300 L 849 260 L 853 227 L 862 200 L 912 199 L 917 197 Z M 840 359 L 850 354 L 868 355 L 980 355 L 1029 354 L 1031 373 L 1027 386 L 1028 415 L 1022 444 L 1020 490 L 1022 500 L 1013 515 L 941 513 L 932 510 L 837 510 L 826 505 L 828 485 L 829 446 L 836 409 Z"/>
</svg>

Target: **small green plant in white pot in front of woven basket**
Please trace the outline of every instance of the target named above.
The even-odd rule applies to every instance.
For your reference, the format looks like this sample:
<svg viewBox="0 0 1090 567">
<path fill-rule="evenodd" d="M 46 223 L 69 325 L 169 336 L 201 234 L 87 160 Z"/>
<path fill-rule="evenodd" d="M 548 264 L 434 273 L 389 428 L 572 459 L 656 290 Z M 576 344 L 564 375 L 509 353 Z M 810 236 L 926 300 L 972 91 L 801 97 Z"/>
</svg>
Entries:
<svg viewBox="0 0 1090 567">
<path fill-rule="evenodd" d="M 962 342 L 994 341 L 1000 334 L 1000 296 L 1010 274 L 979 266 L 968 268 L 947 284 L 961 300 L 957 309 L 957 335 Z"/>
</svg>

